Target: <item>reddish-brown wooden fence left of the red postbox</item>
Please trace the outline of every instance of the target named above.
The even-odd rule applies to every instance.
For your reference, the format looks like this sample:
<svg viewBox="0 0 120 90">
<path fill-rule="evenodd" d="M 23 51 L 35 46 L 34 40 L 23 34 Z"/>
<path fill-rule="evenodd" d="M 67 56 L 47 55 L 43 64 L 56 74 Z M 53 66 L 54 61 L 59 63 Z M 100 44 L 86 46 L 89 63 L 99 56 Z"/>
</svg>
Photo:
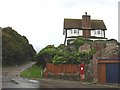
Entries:
<svg viewBox="0 0 120 90">
<path fill-rule="evenodd" d="M 80 72 L 78 64 L 46 64 L 44 71 L 44 77 L 48 78 L 48 74 L 60 75 L 60 74 L 76 74 Z"/>
</svg>

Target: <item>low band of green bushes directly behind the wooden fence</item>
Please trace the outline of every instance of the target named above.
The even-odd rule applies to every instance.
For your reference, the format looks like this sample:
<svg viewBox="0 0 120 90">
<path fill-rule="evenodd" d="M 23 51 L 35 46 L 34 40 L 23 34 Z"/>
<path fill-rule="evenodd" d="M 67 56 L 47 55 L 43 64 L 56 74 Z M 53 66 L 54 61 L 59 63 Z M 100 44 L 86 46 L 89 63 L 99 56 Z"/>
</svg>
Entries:
<svg viewBox="0 0 120 90">
<path fill-rule="evenodd" d="M 48 52 L 47 49 L 49 49 Z M 62 49 L 60 49 L 60 47 L 47 48 L 47 49 L 44 48 L 36 56 L 36 58 L 38 59 L 38 64 L 43 65 L 43 68 L 45 67 L 46 63 L 53 63 L 53 64 L 80 64 L 82 62 L 89 63 L 89 61 L 92 59 L 92 56 L 94 54 L 94 50 L 90 50 L 87 53 L 78 52 L 78 51 L 70 52 L 69 49 L 66 48 L 66 46 Z M 53 49 L 54 49 L 54 53 L 52 52 Z M 43 54 L 43 52 L 45 52 L 44 50 L 46 51 L 46 53 Z M 50 55 L 50 56 L 47 57 L 46 55 Z"/>
</svg>

